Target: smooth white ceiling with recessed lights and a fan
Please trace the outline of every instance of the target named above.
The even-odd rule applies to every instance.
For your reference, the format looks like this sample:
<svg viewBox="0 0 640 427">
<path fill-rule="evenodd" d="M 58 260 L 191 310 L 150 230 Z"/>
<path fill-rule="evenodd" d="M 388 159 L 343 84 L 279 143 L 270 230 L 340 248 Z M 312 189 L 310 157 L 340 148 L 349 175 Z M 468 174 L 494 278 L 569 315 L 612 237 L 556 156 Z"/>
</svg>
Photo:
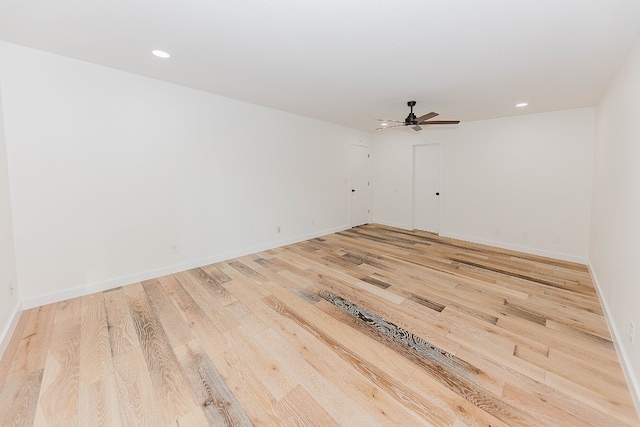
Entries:
<svg viewBox="0 0 640 427">
<path fill-rule="evenodd" d="M 596 105 L 638 30 L 639 0 L 0 0 L 0 40 L 365 130 Z"/>
</svg>

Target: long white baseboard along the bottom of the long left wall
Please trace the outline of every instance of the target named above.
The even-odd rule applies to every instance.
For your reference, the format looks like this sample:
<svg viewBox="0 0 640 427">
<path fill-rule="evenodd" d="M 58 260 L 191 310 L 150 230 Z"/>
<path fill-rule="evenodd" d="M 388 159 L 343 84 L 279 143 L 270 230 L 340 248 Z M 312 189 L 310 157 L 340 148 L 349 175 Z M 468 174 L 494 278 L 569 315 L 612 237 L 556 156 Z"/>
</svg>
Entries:
<svg viewBox="0 0 640 427">
<path fill-rule="evenodd" d="M 256 252 L 262 252 L 262 251 L 277 248 L 280 246 L 285 246 L 292 243 L 313 239 L 315 237 L 337 233 L 339 231 L 343 231 L 348 228 L 350 228 L 348 225 L 344 225 L 341 227 L 336 227 L 332 229 L 327 229 L 327 230 L 306 234 L 304 236 L 296 236 L 288 239 L 282 239 L 282 240 L 270 242 L 264 245 L 258 245 L 258 246 L 244 248 L 236 251 L 225 252 L 225 253 L 214 255 L 211 257 L 200 258 L 200 259 L 191 260 L 191 261 L 187 261 L 180 264 L 171 265 L 168 267 L 144 271 L 144 272 L 140 272 L 140 273 L 136 273 L 128 276 L 118 277 L 115 279 L 109 279 L 103 282 L 89 283 L 89 284 L 72 288 L 72 289 L 66 289 L 63 291 L 52 292 L 50 294 L 38 295 L 31 298 L 25 298 L 22 300 L 22 307 L 23 309 L 27 310 L 34 307 L 40 307 L 41 305 L 64 301 L 70 298 L 81 297 L 81 296 L 89 295 L 95 292 L 102 292 L 109 289 L 117 288 L 118 286 L 125 286 L 131 283 L 137 283 L 137 282 L 142 282 L 144 280 L 155 279 L 156 277 L 166 276 L 168 274 L 178 273 L 180 271 L 202 267 L 204 265 L 225 261 L 231 258 L 250 255 Z"/>
</svg>

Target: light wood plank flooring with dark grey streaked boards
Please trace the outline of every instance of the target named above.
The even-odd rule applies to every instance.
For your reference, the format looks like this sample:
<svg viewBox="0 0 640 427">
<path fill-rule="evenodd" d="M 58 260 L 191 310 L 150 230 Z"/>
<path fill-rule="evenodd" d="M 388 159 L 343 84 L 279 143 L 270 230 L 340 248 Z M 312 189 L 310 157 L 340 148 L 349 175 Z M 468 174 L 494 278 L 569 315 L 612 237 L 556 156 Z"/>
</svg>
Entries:
<svg viewBox="0 0 640 427">
<path fill-rule="evenodd" d="M 587 268 L 367 225 L 24 311 L 6 426 L 638 426 Z"/>
</svg>

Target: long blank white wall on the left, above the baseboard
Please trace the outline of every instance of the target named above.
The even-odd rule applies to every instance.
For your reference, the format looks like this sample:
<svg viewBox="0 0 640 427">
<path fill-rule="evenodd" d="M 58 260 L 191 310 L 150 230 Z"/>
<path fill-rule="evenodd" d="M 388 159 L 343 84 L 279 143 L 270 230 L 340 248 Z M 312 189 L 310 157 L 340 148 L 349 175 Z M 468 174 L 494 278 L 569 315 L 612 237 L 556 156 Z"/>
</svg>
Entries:
<svg viewBox="0 0 640 427">
<path fill-rule="evenodd" d="M 25 307 L 348 227 L 348 146 L 367 133 L 11 44 L 0 57 Z"/>
</svg>

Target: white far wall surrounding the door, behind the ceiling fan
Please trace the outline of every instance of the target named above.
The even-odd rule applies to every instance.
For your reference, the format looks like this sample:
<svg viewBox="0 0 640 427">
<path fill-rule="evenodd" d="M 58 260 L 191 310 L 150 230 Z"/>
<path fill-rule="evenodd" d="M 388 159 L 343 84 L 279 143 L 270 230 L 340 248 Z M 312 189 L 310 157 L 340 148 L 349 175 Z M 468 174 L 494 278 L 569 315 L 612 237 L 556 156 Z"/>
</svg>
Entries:
<svg viewBox="0 0 640 427">
<path fill-rule="evenodd" d="M 411 147 L 441 141 L 442 235 L 586 263 L 594 123 L 583 108 L 376 134 L 374 221 L 411 227 Z"/>
</svg>

